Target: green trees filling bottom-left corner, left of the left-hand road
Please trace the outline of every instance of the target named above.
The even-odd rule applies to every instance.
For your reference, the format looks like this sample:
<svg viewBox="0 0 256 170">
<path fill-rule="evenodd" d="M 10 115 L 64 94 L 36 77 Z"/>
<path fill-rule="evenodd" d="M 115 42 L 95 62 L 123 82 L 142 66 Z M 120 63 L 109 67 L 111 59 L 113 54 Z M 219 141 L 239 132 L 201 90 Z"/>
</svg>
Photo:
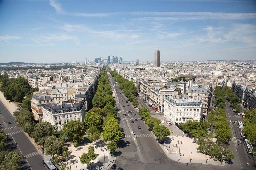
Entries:
<svg viewBox="0 0 256 170">
<path fill-rule="evenodd" d="M 20 160 L 23 156 L 16 151 L 8 150 L 7 145 L 7 136 L 2 130 L 0 130 L 0 169 L 20 169 L 22 166 Z"/>
</svg>

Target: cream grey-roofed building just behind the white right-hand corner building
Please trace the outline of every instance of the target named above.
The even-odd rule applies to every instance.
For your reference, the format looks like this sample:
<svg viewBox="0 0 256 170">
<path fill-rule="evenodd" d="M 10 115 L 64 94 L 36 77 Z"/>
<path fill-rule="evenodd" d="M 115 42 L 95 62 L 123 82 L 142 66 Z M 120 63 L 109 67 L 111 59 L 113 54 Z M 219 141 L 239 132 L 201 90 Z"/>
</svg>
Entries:
<svg viewBox="0 0 256 170">
<path fill-rule="evenodd" d="M 201 97 L 203 99 L 203 113 L 207 114 L 212 97 L 212 84 L 195 84 L 188 90 L 188 98 Z"/>
</svg>

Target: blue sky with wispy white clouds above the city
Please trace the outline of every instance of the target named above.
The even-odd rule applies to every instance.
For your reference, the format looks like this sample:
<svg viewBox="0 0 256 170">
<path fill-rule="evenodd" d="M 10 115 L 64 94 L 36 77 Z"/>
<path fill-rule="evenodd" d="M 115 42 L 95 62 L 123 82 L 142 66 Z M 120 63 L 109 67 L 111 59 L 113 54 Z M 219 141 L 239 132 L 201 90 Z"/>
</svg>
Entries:
<svg viewBox="0 0 256 170">
<path fill-rule="evenodd" d="M 0 63 L 256 59 L 254 0 L 0 0 Z"/>
</svg>

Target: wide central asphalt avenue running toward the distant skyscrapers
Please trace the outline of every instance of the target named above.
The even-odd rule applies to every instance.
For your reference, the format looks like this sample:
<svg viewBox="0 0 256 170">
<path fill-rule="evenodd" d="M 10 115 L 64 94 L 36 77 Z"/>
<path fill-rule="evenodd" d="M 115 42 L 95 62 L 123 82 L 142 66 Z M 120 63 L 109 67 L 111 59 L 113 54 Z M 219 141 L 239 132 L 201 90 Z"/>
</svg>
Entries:
<svg viewBox="0 0 256 170">
<path fill-rule="evenodd" d="M 118 143 L 118 149 L 116 151 L 117 167 L 122 167 L 124 170 L 241 169 L 238 166 L 199 166 L 199 164 L 190 164 L 189 166 L 187 166 L 185 163 L 179 163 L 168 158 L 159 146 L 156 139 L 152 135 L 150 135 L 152 133 L 148 130 L 147 126 L 140 119 L 138 119 L 138 121 L 134 120 L 135 118 L 140 118 L 138 112 L 133 112 L 133 114 L 130 114 L 131 116 L 129 117 L 123 115 L 124 113 L 128 115 L 129 113 L 126 113 L 126 111 L 131 111 L 132 109 L 134 110 L 134 108 L 130 102 L 128 102 L 129 106 L 126 105 L 127 98 L 124 96 L 124 93 L 122 92 L 120 94 L 121 90 L 118 87 L 113 86 L 116 85 L 116 81 L 112 78 L 110 74 L 108 74 L 108 77 L 112 90 L 115 90 L 113 92 L 114 97 L 117 101 L 116 107 L 118 107 L 119 110 L 117 117 L 120 120 L 120 127 L 124 129 L 124 141 L 130 141 L 130 146 L 126 146 L 124 141 L 120 141 Z M 134 116 L 134 113 L 136 113 L 136 116 Z M 133 120 L 134 123 L 131 123 L 131 120 Z M 141 129 L 138 129 L 139 125 Z M 133 131 L 135 131 L 135 135 L 137 137 L 136 140 L 133 140 Z"/>
</svg>

